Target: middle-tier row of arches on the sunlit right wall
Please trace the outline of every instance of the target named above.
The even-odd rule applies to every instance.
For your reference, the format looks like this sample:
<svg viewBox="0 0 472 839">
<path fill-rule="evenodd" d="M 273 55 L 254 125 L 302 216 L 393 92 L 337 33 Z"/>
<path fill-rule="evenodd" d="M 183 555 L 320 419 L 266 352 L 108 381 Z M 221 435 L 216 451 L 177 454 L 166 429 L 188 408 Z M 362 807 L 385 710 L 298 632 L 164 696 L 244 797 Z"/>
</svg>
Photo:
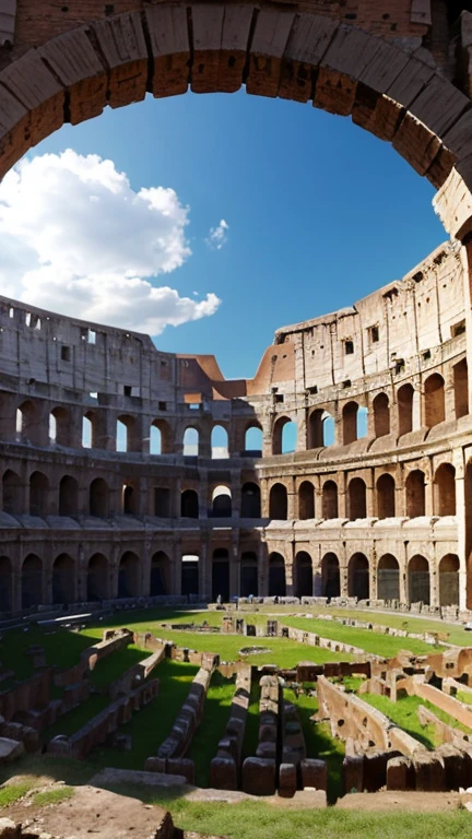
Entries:
<svg viewBox="0 0 472 839">
<path fill-rule="evenodd" d="M 379 519 L 398 516 L 394 477 L 385 472 L 375 484 L 374 516 Z M 426 515 L 425 473 L 412 470 L 404 485 L 404 515 L 411 519 Z M 321 518 L 339 518 L 339 492 L 335 481 L 324 481 L 321 489 Z M 269 517 L 286 520 L 288 494 L 284 484 L 275 483 L 269 494 Z M 450 463 L 441 463 L 434 475 L 433 515 L 456 516 L 456 470 Z M 298 519 L 315 518 L 315 487 L 304 481 L 298 488 Z M 351 521 L 367 518 L 367 486 L 362 477 L 352 477 L 347 484 L 346 518 Z"/>
</svg>

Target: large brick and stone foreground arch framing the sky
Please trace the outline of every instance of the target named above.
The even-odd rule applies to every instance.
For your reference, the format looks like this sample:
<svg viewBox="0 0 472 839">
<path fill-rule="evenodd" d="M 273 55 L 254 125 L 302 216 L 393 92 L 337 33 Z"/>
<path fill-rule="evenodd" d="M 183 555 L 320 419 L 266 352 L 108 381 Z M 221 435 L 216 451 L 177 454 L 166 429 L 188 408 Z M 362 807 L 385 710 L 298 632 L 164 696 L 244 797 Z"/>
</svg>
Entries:
<svg viewBox="0 0 472 839">
<path fill-rule="evenodd" d="M 439 190 L 446 229 L 463 237 L 472 200 L 470 99 L 429 52 L 321 14 L 279 5 L 151 5 L 30 49 L 0 73 L 0 176 L 64 122 L 109 105 L 185 93 L 312 103 L 389 141 Z"/>
</svg>

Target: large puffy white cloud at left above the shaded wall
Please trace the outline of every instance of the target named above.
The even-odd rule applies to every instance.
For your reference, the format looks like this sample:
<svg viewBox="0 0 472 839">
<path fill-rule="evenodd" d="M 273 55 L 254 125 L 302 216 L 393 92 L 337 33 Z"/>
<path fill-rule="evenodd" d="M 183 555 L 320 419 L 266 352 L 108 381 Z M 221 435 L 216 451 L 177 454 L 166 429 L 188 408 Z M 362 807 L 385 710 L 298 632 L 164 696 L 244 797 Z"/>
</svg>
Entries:
<svg viewBox="0 0 472 839">
<path fill-rule="evenodd" d="M 97 155 L 25 159 L 0 184 L 0 293 L 152 335 L 213 315 L 215 294 L 197 302 L 149 280 L 190 257 L 188 215 L 173 189 L 134 191 Z"/>
</svg>

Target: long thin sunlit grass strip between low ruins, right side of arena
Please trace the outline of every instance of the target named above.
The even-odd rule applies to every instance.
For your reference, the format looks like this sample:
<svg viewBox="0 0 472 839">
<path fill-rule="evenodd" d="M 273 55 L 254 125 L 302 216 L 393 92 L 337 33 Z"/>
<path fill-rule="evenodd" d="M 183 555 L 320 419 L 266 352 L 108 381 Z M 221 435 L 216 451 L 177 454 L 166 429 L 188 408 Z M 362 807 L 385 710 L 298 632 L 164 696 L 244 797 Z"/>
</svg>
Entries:
<svg viewBox="0 0 472 839">
<path fill-rule="evenodd" d="M 287 617 L 284 623 L 287 626 L 294 626 L 307 633 L 316 633 L 322 638 L 331 638 L 333 641 L 351 643 L 353 647 L 361 647 L 366 652 L 373 652 L 384 658 L 393 658 L 399 650 L 410 650 L 417 654 L 430 653 L 439 650 L 439 647 L 432 648 L 429 643 L 418 641 L 414 638 L 396 638 L 389 635 L 379 635 L 369 629 L 356 629 L 352 626 L 343 626 L 338 621 L 318 621 L 310 617 Z"/>
</svg>

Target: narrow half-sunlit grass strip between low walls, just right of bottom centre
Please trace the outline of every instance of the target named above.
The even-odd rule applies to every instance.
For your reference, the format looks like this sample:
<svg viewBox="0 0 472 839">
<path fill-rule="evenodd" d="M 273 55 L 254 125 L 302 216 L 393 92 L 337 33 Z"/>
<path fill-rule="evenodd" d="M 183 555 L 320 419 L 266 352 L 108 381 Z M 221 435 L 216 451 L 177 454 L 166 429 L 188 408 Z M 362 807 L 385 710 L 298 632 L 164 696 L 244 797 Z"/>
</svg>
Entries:
<svg viewBox="0 0 472 839">
<path fill-rule="evenodd" d="M 295 696 L 290 688 L 284 690 L 284 695 L 298 708 L 307 757 L 319 758 L 328 764 L 328 801 L 333 803 L 342 793 L 344 743 L 331 735 L 329 723 L 314 722 L 310 719 L 318 711 L 318 700 L 315 696 Z"/>
</svg>

